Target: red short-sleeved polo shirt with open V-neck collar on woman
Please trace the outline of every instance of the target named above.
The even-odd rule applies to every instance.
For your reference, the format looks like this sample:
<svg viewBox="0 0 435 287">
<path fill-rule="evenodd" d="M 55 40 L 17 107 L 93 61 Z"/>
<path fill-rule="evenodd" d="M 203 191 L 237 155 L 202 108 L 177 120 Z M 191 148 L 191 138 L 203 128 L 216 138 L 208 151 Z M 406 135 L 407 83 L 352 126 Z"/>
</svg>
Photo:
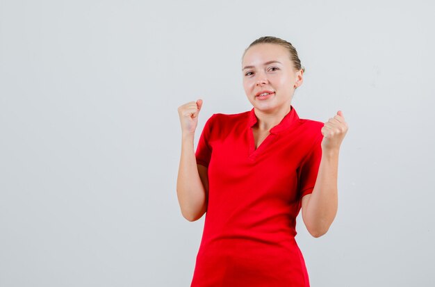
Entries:
<svg viewBox="0 0 435 287">
<path fill-rule="evenodd" d="M 309 286 L 295 225 L 317 178 L 323 123 L 291 106 L 255 149 L 256 122 L 254 108 L 216 113 L 199 138 L 208 206 L 191 287 Z"/>
</svg>

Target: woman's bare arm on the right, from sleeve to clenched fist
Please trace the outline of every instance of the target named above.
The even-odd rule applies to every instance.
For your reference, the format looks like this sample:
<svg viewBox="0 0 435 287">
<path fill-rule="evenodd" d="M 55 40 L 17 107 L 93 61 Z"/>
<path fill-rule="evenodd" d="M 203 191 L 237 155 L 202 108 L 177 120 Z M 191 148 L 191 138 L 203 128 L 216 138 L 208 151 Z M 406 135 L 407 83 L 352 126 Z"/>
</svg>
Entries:
<svg viewBox="0 0 435 287">
<path fill-rule="evenodd" d="M 302 219 L 314 237 L 327 233 L 338 208 L 338 154 L 347 133 L 343 113 L 329 119 L 322 128 L 322 159 L 311 195 L 302 197 Z"/>
</svg>

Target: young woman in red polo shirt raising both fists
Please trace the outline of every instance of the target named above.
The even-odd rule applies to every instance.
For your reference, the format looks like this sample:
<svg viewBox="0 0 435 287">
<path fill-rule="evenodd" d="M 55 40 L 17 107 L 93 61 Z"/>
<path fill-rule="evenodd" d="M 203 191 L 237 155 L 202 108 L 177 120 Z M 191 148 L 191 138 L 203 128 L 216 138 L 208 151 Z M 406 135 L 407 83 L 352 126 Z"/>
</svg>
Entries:
<svg viewBox="0 0 435 287">
<path fill-rule="evenodd" d="M 213 114 L 196 152 L 202 99 L 178 108 L 182 129 L 177 197 L 183 217 L 206 213 L 191 286 L 309 286 L 295 241 L 296 217 L 314 237 L 337 211 L 343 113 L 303 120 L 291 106 L 304 69 L 285 40 L 262 37 L 242 60 L 252 110 Z"/>
</svg>

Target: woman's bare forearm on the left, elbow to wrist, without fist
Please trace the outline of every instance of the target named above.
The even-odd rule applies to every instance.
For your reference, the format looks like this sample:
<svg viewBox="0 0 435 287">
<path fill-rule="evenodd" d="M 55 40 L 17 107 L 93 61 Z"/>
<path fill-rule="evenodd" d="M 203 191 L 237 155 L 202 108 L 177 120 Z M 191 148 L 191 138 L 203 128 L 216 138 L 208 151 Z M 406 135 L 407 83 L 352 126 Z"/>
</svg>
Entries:
<svg viewBox="0 0 435 287">
<path fill-rule="evenodd" d="M 177 197 L 183 217 L 195 221 L 206 211 L 206 192 L 199 177 L 193 134 L 181 138 L 181 158 L 177 177 Z"/>
</svg>

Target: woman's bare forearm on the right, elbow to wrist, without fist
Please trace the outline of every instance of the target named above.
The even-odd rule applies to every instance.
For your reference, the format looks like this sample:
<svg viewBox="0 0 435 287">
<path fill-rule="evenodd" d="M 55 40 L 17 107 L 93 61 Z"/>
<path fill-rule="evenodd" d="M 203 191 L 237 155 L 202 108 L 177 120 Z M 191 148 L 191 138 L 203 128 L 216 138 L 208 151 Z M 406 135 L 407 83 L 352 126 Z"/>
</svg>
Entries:
<svg viewBox="0 0 435 287">
<path fill-rule="evenodd" d="M 328 231 L 337 213 L 338 153 L 338 150 L 322 153 L 313 192 L 302 210 L 306 228 L 314 237 Z"/>
</svg>

